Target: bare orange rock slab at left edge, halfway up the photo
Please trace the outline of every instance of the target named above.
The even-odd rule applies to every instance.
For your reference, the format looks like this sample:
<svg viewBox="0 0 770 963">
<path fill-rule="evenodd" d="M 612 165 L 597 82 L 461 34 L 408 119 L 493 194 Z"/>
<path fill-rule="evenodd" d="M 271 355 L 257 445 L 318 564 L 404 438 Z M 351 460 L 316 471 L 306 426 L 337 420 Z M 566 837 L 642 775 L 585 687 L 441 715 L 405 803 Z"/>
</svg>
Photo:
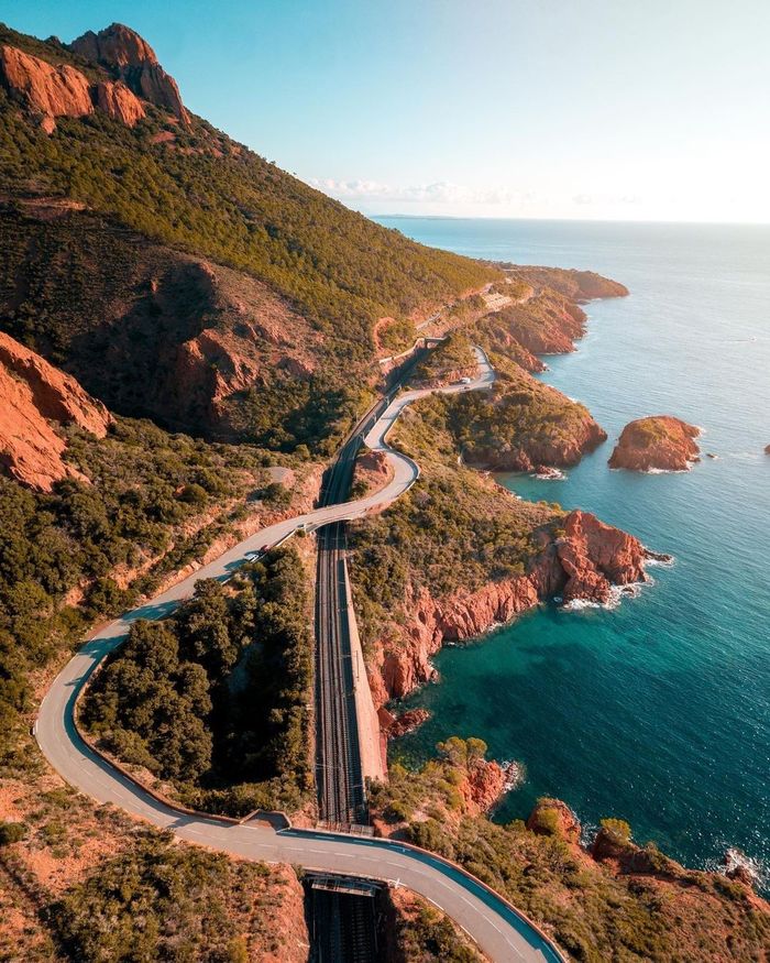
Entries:
<svg viewBox="0 0 770 963">
<path fill-rule="evenodd" d="M 103 437 L 110 420 L 74 377 L 0 332 L 0 464 L 11 478 L 51 491 L 59 479 L 81 477 L 64 461 L 66 442 L 51 423 Z"/>
</svg>

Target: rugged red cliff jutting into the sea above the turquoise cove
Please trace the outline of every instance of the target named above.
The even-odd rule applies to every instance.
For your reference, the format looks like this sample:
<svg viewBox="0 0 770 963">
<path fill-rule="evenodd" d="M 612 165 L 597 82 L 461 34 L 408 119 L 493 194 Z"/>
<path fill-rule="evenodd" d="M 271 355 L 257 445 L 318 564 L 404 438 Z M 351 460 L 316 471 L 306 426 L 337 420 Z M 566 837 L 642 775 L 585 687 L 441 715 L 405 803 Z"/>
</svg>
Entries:
<svg viewBox="0 0 770 963">
<path fill-rule="evenodd" d="M 562 529 L 542 535 L 529 571 L 488 582 L 475 592 L 436 599 L 426 589 L 408 589 L 404 626 L 375 645 L 370 685 L 375 704 L 402 698 L 436 676 L 431 657 L 444 642 L 482 635 L 539 602 L 561 595 L 606 603 L 613 586 L 644 581 L 649 554 L 634 536 L 605 525 L 587 512 L 570 512 Z"/>
</svg>

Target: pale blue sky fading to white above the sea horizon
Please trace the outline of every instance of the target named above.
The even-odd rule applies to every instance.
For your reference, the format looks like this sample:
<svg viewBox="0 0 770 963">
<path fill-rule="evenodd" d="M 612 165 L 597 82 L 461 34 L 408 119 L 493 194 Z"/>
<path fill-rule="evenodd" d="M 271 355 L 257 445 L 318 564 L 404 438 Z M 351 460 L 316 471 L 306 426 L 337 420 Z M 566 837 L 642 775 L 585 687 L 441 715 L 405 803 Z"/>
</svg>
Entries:
<svg viewBox="0 0 770 963">
<path fill-rule="evenodd" d="M 365 214 L 770 222 L 770 0 L 2 0 Z"/>
</svg>

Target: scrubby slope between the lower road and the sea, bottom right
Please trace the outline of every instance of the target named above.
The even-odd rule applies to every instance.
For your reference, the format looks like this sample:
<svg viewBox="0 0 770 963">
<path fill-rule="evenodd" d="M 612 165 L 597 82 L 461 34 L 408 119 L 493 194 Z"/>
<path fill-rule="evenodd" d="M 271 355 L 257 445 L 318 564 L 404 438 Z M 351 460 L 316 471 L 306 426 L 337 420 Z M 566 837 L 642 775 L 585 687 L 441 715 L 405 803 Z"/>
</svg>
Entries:
<svg viewBox="0 0 770 963">
<path fill-rule="evenodd" d="M 451 741 L 450 741 L 451 742 Z M 458 741 L 459 742 L 459 741 Z M 385 820 L 409 820 L 416 844 L 464 866 L 551 932 L 570 959 L 657 961 L 707 957 L 760 960 L 770 944 L 770 913 L 750 890 L 718 874 L 686 871 L 653 846 L 625 839 L 627 825 L 607 820 L 620 850 L 632 861 L 618 867 L 592 858 L 549 819 L 562 803 L 538 812 L 527 828 L 497 825 L 463 812 L 454 788 L 463 763 L 443 753 L 419 772 L 396 764 L 389 781 L 374 788 L 373 806 Z"/>
</svg>

